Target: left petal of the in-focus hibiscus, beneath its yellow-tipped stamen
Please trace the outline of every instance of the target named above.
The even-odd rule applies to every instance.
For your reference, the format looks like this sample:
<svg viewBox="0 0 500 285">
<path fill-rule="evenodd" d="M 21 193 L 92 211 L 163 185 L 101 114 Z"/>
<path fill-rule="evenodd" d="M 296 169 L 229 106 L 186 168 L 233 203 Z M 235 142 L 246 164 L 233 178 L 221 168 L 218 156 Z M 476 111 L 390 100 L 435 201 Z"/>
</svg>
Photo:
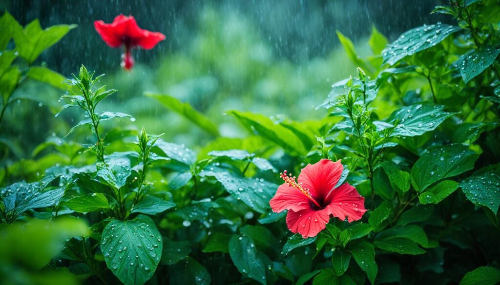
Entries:
<svg viewBox="0 0 500 285">
<path fill-rule="evenodd" d="M 300 211 L 310 208 L 309 199 L 298 189 L 284 183 L 279 185 L 274 197 L 269 201 L 273 212 L 279 213 L 284 210 Z"/>
</svg>

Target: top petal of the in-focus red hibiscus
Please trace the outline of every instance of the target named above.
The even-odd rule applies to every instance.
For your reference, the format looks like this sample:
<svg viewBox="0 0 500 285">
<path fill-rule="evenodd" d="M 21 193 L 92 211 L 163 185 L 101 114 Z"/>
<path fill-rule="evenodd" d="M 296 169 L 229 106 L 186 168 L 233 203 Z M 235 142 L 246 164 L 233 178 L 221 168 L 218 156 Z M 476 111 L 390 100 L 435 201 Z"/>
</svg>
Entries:
<svg viewBox="0 0 500 285">
<path fill-rule="evenodd" d="M 324 197 L 337 184 L 342 170 L 343 166 L 340 161 L 333 162 L 329 159 L 321 159 L 317 163 L 304 167 L 298 175 L 297 182 L 302 183 L 302 187 L 309 189 L 314 199 L 323 201 Z"/>
</svg>

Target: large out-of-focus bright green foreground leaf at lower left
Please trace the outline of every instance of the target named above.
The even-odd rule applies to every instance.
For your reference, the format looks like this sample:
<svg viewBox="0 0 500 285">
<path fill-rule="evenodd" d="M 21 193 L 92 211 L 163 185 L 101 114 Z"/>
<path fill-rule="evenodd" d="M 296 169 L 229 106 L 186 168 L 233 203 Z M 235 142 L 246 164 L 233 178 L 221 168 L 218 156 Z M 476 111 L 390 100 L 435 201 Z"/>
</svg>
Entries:
<svg viewBox="0 0 500 285">
<path fill-rule="evenodd" d="M 22 266 L 30 271 L 39 270 L 60 253 L 66 239 L 89 234 L 85 221 L 72 217 L 31 219 L 27 223 L 2 225 L 0 259 L 4 265 Z"/>
</svg>

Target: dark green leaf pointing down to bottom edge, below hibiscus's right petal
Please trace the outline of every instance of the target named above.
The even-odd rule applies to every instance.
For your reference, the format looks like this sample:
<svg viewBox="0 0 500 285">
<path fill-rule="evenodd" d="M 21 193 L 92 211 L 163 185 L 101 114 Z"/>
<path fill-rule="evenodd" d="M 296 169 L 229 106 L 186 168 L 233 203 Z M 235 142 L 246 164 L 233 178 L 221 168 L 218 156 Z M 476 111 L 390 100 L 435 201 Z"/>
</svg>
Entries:
<svg viewBox="0 0 500 285">
<path fill-rule="evenodd" d="M 370 283 L 374 284 L 378 267 L 375 263 L 373 245 L 362 240 L 356 240 L 349 245 L 348 252 L 352 254 L 361 270 L 366 273 Z"/>
</svg>

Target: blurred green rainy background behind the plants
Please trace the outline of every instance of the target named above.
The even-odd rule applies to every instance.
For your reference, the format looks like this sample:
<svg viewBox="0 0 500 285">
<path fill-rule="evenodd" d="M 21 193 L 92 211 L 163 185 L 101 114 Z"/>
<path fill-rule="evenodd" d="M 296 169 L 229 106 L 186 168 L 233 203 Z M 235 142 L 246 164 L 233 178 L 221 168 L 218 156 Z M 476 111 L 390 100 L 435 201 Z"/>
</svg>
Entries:
<svg viewBox="0 0 500 285">
<path fill-rule="evenodd" d="M 34 18 L 42 27 L 77 24 L 35 64 L 46 64 L 65 76 L 82 63 L 97 74 L 105 73 L 101 83 L 118 92 L 104 100 L 101 110 L 126 112 L 136 119 L 123 119 L 120 126 L 145 126 L 148 133 L 165 133 L 165 140 L 196 147 L 210 136 L 145 97 L 144 91 L 189 102 L 218 124 L 226 137 L 245 135 L 233 118 L 224 116 L 231 109 L 276 120 L 321 118 L 324 111 L 314 107 L 332 83 L 355 71 L 339 45 L 336 30 L 366 56 L 372 26 L 393 40 L 409 28 L 442 20 L 442 16 L 429 14 L 441 2 L 0 0 L 0 11 L 7 9 L 22 25 Z M 141 28 L 166 35 L 152 50 L 133 50 L 136 65 L 131 72 L 119 66 L 122 50 L 106 46 L 93 28 L 94 20 L 109 23 L 119 13 L 133 15 Z M 16 92 L 37 101 L 13 104 L 2 126 L 3 135 L 17 141 L 21 156 L 29 157 L 47 138 L 63 137 L 81 119 L 76 110 L 53 117 L 63 105 L 58 102 L 60 90 L 25 81 Z M 81 141 L 86 136 L 91 140 L 86 130 L 80 132 L 82 137 L 78 135 L 68 139 Z"/>
</svg>

